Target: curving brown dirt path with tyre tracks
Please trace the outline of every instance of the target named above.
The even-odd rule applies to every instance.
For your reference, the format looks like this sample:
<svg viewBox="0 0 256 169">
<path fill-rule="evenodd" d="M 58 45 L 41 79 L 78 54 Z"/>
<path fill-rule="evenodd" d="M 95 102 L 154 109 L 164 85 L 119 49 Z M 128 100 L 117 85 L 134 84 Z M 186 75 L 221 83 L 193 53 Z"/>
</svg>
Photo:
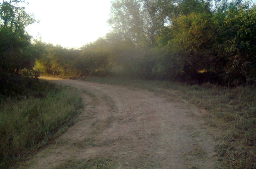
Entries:
<svg viewBox="0 0 256 169">
<path fill-rule="evenodd" d="M 217 168 L 203 112 L 183 100 L 123 86 L 51 80 L 95 96 L 82 94 L 86 106 L 79 121 L 28 161 L 30 168 L 99 156 L 111 158 L 114 168 Z"/>
</svg>

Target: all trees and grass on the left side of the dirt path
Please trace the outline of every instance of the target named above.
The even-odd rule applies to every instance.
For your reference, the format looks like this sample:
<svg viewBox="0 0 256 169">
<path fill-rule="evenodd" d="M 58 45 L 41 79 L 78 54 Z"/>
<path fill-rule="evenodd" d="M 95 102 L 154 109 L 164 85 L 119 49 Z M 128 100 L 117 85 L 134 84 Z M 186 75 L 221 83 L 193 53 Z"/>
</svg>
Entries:
<svg viewBox="0 0 256 169">
<path fill-rule="evenodd" d="M 37 21 L 19 2 L 0 3 L 0 168 L 54 141 L 82 107 L 75 89 L 38 79 L 33 67 L 42 54 L 25 32 Z"/>
</svg>

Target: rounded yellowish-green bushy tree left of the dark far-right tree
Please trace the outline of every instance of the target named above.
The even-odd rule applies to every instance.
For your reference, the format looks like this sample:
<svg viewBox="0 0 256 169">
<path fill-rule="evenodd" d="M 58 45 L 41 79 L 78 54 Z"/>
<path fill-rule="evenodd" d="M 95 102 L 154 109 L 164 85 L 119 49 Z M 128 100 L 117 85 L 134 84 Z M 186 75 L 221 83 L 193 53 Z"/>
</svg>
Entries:
<svg viewBox="0 0 256 169">
<path fill-rule="evenodd" d="M 198 80 L 196 76 L 200 71 L 214 71 L 215 57 L 211 49 L 215 37 L 210 17 L 208 13 L 192 13 L 174 20 L 175 35 L 167 46 L 171 59 L 178 61 L 175 64 L 182 65 L 180 70 L 175 68 L 176 71 L 187 79 Z"/>
</svg>

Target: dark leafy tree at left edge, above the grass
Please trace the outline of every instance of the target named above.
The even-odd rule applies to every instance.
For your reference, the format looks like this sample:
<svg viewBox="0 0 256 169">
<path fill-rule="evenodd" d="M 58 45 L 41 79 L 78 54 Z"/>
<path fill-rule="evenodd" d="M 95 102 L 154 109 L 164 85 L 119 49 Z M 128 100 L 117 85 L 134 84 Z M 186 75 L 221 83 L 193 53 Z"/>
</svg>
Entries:
<svg viewBox="0 0 256 169">
<path fill-rule="evenodd" d="M 32 68 L 38 53 L 24 30 L 35 20 L 25 8 L 13 5 L 17 2 L 0 3 L 0 93 L 7 95 L 23 91 L 24 87 L 15 85 L 26 85 L 24 77 L 37 77 Z"/>
</svg>

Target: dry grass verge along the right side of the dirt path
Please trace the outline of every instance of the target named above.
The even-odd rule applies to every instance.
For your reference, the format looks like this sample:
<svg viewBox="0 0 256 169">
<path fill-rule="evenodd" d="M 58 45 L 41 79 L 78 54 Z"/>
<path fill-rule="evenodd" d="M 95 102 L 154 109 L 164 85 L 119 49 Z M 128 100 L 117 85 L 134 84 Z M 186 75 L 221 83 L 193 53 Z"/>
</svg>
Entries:
<svg viewBox="0 0 256 169">
<path fill-rule="evenodd" d="M 256 168 L 256 88 L 226 88 L 186 85 L 167 81 L 144 81 L 124 78 L 83 78 L 85 81 L 124 85 L 182 97 L 206 109 L 205 121 L 216 128 L 215 150 L 223 168 Z"/>
</svg>

